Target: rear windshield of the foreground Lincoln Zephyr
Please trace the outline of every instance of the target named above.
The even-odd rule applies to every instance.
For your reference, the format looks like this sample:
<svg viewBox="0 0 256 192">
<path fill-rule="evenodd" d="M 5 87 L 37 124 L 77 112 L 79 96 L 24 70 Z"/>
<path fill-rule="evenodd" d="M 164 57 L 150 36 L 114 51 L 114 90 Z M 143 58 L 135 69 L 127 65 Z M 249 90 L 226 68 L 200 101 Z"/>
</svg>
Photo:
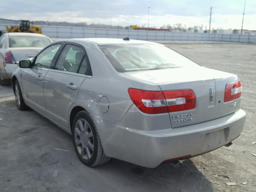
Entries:
<svg viewBox="0 0 256 192">
<path fill-rule="evenodd" d="M 198 66 L 164 45 L 114 44 L 99 47 L 118 72 Z"/>
</svg>

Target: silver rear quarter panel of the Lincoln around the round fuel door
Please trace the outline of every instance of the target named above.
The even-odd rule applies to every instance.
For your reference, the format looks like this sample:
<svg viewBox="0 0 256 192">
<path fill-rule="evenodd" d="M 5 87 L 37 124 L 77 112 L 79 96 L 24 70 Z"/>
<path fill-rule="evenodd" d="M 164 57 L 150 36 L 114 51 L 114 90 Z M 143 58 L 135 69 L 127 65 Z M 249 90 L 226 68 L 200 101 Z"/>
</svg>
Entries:
<svg viewBox="0 0 256 192">
<path fill-rule="evenodd" d="M 124 74 L 112 77 L 87 78 L 82 85 L 76 99 L 76 105 L 84 107 L 90 114 L 102 116 L 114 121 L 120 121 L 133 102 L 128 94 L 128 88 L 146 90 L 160 90 L 152 83 L 134 81 Z M 108 98 L 109 108 L 106 113 L 99 107 L 100 98 Z M 169 118 L 169 117 L 168 117 Z"/>
</svg>

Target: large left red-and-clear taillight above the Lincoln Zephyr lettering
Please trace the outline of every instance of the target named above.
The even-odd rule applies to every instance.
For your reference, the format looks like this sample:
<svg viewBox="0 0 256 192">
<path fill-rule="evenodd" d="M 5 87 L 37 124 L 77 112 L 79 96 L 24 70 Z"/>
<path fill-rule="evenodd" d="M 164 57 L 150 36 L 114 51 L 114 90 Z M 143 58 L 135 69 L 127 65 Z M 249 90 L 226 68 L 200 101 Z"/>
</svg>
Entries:
<svg viewBox="0 0 256 192">
<path fill-rule="evenodd" d="M 192 90 L 146 91 L 129 88 L 132 102 L 144 113 L 159 114 L 196 107 L 196 96 Z"/>
</svg>

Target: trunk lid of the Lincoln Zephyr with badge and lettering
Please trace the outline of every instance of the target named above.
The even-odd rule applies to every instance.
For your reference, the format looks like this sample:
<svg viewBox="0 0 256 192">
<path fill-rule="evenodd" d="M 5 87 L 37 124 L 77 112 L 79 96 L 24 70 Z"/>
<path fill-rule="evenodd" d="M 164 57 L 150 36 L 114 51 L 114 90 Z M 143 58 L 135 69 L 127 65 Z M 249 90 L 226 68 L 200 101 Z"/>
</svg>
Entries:
<svg viewBox="0 0 256 192">
<path fill-rule="evenodd" d="M 124 74 L 155 83 L 163 91 L 181 89 L 194 91 L 196 108 L 170 112 L 172 128 L 220 118 L 240 108 L 240 98 L 224 102 L 226 84 L 238 80 L 234 74 L 202 66 L 125 72 Z"/>
</svg>

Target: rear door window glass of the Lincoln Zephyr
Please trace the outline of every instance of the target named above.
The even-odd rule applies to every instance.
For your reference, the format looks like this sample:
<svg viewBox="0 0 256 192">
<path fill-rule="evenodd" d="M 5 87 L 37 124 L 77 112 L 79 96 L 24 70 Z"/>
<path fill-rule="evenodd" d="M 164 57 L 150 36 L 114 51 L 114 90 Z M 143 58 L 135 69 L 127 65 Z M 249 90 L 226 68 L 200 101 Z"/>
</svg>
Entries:
<svg viewBox="0 0 256 192">
<path fill-rule="evenodd" d="M 77 73 L 82 60 L 84 60 L 84 51 L 78 46 L 67 44 L 60 54 L 55 69 Z"/>
</svg>

